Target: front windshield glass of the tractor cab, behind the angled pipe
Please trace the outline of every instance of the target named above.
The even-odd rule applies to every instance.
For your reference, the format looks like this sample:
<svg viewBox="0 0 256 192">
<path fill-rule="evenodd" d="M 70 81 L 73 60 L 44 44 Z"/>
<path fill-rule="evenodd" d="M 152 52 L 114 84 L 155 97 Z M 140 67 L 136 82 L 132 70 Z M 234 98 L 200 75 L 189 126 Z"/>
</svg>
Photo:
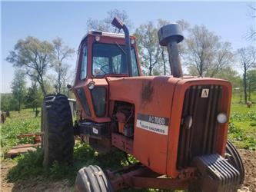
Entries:
<svg viewBox="0 0 256 192">
<path fill-rule="evenodd" d="M 92 74 L 103 77 L 105 74 L 128 74 L 125 45 L 95 43 L 92 48 Z M 131 46 L 132 76 L 138 76 L 135 48 Z"/>
</svg>

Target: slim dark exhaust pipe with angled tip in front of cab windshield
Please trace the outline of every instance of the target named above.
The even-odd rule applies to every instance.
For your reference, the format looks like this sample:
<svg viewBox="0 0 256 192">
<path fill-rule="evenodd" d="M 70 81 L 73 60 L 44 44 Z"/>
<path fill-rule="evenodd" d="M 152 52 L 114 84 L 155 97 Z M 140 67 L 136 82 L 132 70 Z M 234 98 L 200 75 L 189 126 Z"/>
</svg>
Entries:
<svg viewBox="0 0 256 192">
<path fill-rule="evenodd" d="M 128 28 L 126 27 L 125 23 L 121 22 L 120 18 L 115 17 L 111 22 L 118 29 L 122 29 L 125 32 L 125 46 L 126 46 L 126 61 L 128 64 L 128 74 L 131 77 L 131 41 Z"/>
</svg>

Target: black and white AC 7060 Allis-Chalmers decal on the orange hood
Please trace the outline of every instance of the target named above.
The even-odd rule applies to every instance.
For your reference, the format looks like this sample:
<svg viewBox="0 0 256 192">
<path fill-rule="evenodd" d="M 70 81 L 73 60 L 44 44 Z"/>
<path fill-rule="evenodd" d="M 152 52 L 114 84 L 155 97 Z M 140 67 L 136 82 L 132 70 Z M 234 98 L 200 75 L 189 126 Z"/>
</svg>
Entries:
<svg viewBox="0 0 256 192">
<path fill-rule="evenodd" d="M 157 134 L 168 135 L 168 124 L 168 118 L 161 118 L 148 114 L 137 115 L 136 127 L 155 132 Z"/>
</svg>

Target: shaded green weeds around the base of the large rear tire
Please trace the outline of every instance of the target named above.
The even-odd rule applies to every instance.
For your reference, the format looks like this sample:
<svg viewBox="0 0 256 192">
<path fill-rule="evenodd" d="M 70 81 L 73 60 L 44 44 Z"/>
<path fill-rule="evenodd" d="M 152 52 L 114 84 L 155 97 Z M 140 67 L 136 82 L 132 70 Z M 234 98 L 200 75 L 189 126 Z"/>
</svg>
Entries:
<svg viewBox="0 0 256 192">
<path fill-rule="evenodd" d="M 71 165 L 54 162 L 52 167 L 42 167 L 43 154 L 42 148 L 37 151 L 30 151 L 28 154 L 22 154 L 14 159 L 15 167 L 8 173 L 8 180 L 24 180 L 28 178 L 41 177 L 45 180 L 68 179 L 70 184 L 74 184 L 75 176 L 81 167 L 90 164 L 98 164 L 102 169 L 116 169 L 123 166 L 125 154 L 121 151 L 114 151 L 115 156 L 109 158 L 109 154 L 98 154 L 88 144 L 75 144 L 74 162 Z"/>
</svg>

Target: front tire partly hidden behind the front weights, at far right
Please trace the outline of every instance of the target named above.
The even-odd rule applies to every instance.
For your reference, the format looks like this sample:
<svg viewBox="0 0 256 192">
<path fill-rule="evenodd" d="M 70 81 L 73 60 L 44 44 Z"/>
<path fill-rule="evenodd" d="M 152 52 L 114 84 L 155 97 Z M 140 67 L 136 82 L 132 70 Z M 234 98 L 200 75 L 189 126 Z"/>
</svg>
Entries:
<svg viewBox="0 0 256 192">
<path fill-rule="evenodd" d="M 231 141 L 227 141 L 226 145 L 226 159 L 228 159 L 228 163 L 230 163 L 234 168 L 236 168 L 240 173 L 240 181 L 239 184 L 243 184 L 244 182 L 244 165 L 241 160 L 241 156 L 238 153 L 238 150 L 234 147 L 234 144 Z"/>
</svg>

